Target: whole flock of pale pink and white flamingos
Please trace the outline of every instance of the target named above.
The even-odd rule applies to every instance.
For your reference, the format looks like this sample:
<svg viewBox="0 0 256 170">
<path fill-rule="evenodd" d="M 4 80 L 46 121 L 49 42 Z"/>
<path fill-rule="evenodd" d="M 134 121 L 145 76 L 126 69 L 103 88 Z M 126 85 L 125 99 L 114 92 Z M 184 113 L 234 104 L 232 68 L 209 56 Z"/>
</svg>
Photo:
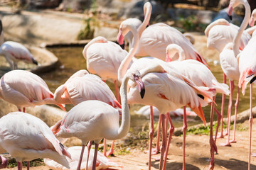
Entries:
<svg viewBox="0 0 256 170">
<path fill-rule="evenodd" d="M 165 23 L 148 26 L 151 16 L 149 2 L 144 4 L 143 22 L 129 18 L 119 26 L 117 42 L 119 45 L 124 41 L 129 42 L 128 52 L 106 38 L 92 39 L 82 51 L 82 55 L 87 60 L 88 72 L 85 69 L 79 70 L 65 84 L 59 86 L 54 94 L 41 77 L 17 68 L 17 62 L 21 60 L 34 64 L 38 62 L 23 45 L 12 41 L 4 42 L 4 32 L 0 23 L 0 54 L 6 57 L 12 69 L 0 79 L 0 98 L 13 103 L 18 108 L 18 112 L 0 118 L 0 153 L 11 154 L 18 162 L 18 170 L 22 169 L 22 162 L 27 162 L 29 169 L 29 162 L 37 158 L 46 158 L 45 162 L 51 169 L 95 170 L 120 166 L 108 161 L 106 156 L 114 152 L 114 140 L 125 137 L 129 132 L 129 104 L 139 103 L 150 106 L 151 111 L 149 169 L 151 169 L 151 155 L 159 152 L 159 169 L 166 169 L 169 144 L 174 132 L 169 111 L 183 108 L 183 170 L 185 170 L 186 106 L 189 106 L 206 125 L 202 107 L 210 105 L 211 159 L 208 169 L 214 169 L 214 153 L 218 152 L 215 144 L 217 137 L 228 135 L 228 141 L 223 144 L 224 146 L 236 142 L 235 128 L 233 140 L 229 139 L 234 80 L 238 81 L 242 94 L 245 94 L 246 86 L 250 83 L 251 146 L 252 83 L 256 79 L 256 57 L 254 57 L 256 31 L 254 31 L 255 26 L 253 27 L 256 10 L 252 11 L 251 15 L 250 5 L 246 0 L 230 0 L 229 16 L 232 16 L 233 8 L 238 4 L 245 6 L 245 18 L 240 27 L 225 19 L 219 19 L 210 23 L 205 30 L 208 48 L 215 48 L 220 52 L 224 83 L 219 83 L 215 79 L 206 60 L 196 51 L 186 35 Z M 248 23 L 252 28 L 245 30 Z M 225 84 L 226 77 L 230 80 L 230 87 Z M 117 97 L 105 83 L 108 79 L 114 80 Z M 118 82 L 121 83 L 120 89 Z M 225 95 L 230 96 L 227 132 L 223 132 L 224 102 L 220 113 L 214 107 L 217 93 L 223 94 L 223 101 Z M 235 103 L 235 117 L 238 97 L 239 90 Z M 65 104 L 70 103 L 74 107 L 50 128 L 39 118 L 25 113 L 26 107 L 43 104 L 55 104 L 65 111 Z M 152 149 L 153 107 L 159 110 L 159 128 L 154 149 Z M 218 116 L 215 137 L 213 137 L 213 113 Z M 120 119 L 121 123 L 119 123 Z M 64 147 L 60 141 L 69 137 L 78 137 L 82 141 L 82 147 L 68 149 Z M 105 149 L 102 155 L 97 149 L 103 138 Z M 113 140 L 108 153 L 106 140 Z M 94 150 L 90 149 L 92 141 L 95 143 Z M 87 157 L 83 157 L 84 154 Z M 250 155 L 249 147 L 248 169 L 250 169 Z M 0 160 L 0 169 L 5 168 L 6 158 L 0 157 Z"/>
</svg>

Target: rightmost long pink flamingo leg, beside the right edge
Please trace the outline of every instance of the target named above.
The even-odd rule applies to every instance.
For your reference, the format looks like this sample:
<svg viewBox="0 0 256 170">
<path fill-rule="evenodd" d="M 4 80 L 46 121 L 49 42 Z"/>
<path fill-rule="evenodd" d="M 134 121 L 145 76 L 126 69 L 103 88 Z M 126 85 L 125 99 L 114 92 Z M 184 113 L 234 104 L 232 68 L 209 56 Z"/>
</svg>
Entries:
<svg viewBox="0 0 256 170">
<path fill-rule="evenodd" d="M 252 147 L 252 123 L 253 123 L 253 116 L 252 116 L 252 84 L 250 84 L 250 137 L 249 137 L 249 161 L 248 161 L 248 170 L 250 170 L 250 155 L 251 155 L 251 147 Z"/>
</svg>

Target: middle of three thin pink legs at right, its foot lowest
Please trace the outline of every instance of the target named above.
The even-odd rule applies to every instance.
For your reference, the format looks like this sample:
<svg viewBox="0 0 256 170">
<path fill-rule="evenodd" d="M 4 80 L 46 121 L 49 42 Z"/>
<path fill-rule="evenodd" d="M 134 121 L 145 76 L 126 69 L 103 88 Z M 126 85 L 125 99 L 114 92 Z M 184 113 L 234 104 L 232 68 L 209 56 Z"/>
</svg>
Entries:
<svg viewBox="0 0 256 170">
<path fill-rule="evenodd" d="M 233 98 L 234 87 L 235 87 L 234 81 L 230 81 L 230 100 L 228 103 L 228 126 L 227 126 L 228 141 L 225 144 L 221 145 L 224 147 L 231 147 L 229 138 L 230 138 L 230 120 L 231 120 L 231 112 L 232 112 L 232 98 Z"/>
</svg>

